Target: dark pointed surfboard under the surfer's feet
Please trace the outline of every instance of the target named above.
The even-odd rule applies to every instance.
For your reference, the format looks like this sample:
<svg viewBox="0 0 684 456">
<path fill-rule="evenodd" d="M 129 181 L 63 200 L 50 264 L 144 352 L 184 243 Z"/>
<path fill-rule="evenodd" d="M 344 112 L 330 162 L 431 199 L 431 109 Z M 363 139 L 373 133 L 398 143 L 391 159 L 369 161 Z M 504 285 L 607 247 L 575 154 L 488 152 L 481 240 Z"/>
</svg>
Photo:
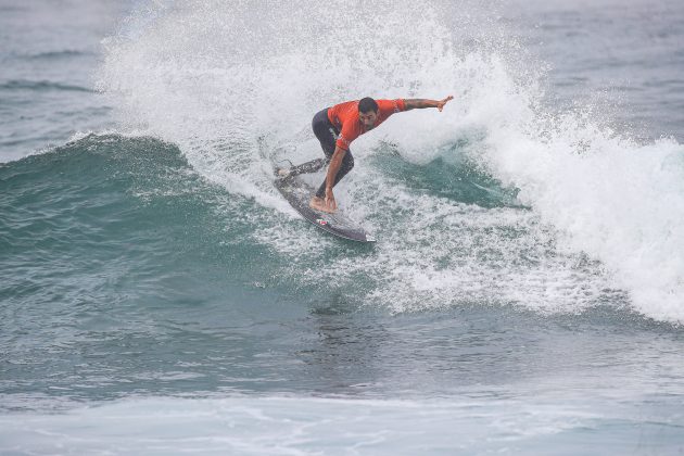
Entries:
<svg viewBox="0 0 684 456">
<path fill-rule="evenodd" d="M 342 239 L 357 242 L 375 242 L 376 239 L 370 236 L 357 223 L 344 215 L 338 208 L 334 214 L 328 214 L 321 211 L 313 210 L 308 206 L 312 195 L 316 190 L 299 176 L 289 176 L 286 178 L 277 178 L 275 182 L 278 191 L 288 200 L 288 203 L 300 215 L 306 218 L 318 228 L 334 235 Z"/>
</svg>

